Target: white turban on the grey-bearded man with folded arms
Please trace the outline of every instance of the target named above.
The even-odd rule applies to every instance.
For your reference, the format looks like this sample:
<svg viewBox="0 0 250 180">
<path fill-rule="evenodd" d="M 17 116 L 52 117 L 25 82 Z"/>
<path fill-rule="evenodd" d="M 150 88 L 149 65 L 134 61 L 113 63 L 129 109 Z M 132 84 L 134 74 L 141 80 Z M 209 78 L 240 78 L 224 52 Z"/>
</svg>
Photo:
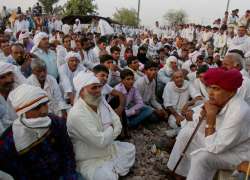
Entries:
<svg viewBox="0 0 250 180">
<path fill-rule="evenodd" d="M 99 79 L 97 79 L 97 77 L 95 77 L 94 73 L 85 71 L 79 72 L 73 79 L 73 84 L 76 90 L 76 96 L 78 97 L 82 88 L 96 83 L 99 84 L 100 81 Z"/>
</svg>

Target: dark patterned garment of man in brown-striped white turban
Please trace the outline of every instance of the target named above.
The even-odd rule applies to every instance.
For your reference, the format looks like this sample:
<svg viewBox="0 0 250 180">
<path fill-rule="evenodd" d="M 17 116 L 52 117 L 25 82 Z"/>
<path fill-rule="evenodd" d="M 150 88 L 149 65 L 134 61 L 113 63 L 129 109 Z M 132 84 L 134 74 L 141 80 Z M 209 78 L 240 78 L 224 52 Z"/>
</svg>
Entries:
<svg viewBox="0 0 250 180">
<path fill-rule="evenodd" d="M 65 121 L 55 116 L 43 137 L 17 152 L 12 126 L 0 137 L 0 170 L 15 180 L 76 180 L 73 146 Z"/>
</svg>

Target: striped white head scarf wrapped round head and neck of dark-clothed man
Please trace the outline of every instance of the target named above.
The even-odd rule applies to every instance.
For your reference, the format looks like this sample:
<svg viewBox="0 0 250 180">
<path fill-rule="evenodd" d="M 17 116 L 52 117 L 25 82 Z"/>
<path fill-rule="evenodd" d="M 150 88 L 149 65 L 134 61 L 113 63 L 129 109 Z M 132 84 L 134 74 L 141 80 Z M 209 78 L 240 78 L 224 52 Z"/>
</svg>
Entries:
<svg viewBox="0 0 250 180">
<path fill-rule="evenodd" d="M 49 99 L 47 93 L 40 87 L 23 84 L 10 93 L 9 100 L 19 116 L 14 121 L 12 130 L 16 150 L 21 152 L 43 137 L 51 124 L 48 116 L 27 119 L 25 112 Z"/>
</svg>

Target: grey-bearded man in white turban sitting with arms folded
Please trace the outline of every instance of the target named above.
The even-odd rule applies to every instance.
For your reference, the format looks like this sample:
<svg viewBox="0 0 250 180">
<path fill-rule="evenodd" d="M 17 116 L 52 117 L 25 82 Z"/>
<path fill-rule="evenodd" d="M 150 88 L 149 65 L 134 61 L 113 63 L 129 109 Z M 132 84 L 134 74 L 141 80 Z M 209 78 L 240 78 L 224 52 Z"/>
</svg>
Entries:
<svg viewBox="0 0 250 180">
<path fill-rule="evenodd" d="M 69 112 L 67 127 L 77 169 L 87 180 L 118 180 L 134 164 L 135 147 L 114 141 L 121 132 L 121 122 L 102 99 L 102 84 L 97 77 L 80 72 L 74 86 L 79 98 Z"/>
</svg>

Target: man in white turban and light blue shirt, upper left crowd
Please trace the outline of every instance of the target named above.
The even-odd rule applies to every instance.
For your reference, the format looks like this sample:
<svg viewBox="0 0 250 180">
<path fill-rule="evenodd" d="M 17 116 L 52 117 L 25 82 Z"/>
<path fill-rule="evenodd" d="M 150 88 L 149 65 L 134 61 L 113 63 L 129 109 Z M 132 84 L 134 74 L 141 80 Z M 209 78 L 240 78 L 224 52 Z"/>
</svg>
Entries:
<svg viewBox="0 0 250 180">
<path fill-rule="evenodd" d="M 35 35 L 31 53 L 34 53 L 46 63 L 49 75 L 55 79 L 58 78 L 56 53 L 49 49 L 49 37 L 45 32 L 39 32 Z"/>
</svg>

